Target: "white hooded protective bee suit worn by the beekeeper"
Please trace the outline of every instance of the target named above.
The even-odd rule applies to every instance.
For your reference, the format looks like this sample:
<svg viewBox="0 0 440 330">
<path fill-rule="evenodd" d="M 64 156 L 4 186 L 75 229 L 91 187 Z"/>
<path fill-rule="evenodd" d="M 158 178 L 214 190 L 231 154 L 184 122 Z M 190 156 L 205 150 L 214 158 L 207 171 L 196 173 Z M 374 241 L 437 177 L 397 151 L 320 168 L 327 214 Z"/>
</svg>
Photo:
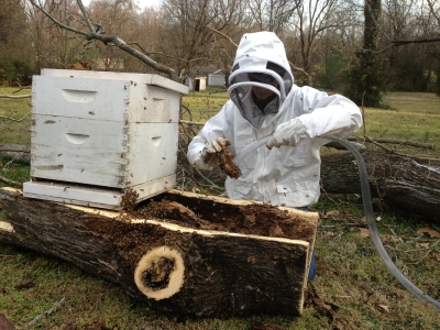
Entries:
<svg viewBox="0 0 440 330">
<path fill-rule="evenodd" d="M 253 81 L 254 73 L 266 74 L 276 82 Z M 348 136 L 362 125 L 359 107 L 340 95 L 328 96 L 294 85 L 284 45 L 272 32 L 243 35 L 229 81 L 231 99 L 189 144 L 189 163 L 212 169 L 201 154 L 218 138 L 231 142 L 229 151 L 235 156 L 257 139 L 279 131 L 271 142 L 271 146 L 277 147 L 270 150 L 263 145 L 238 164 L 242 176 L 227 178 L 227 195 L 276 206 L 315 204 L 320 195 L 319 148 L 329 142 L 326 136 Z M 263 110 L 253 101 L 252 86 L 267 88 L 275 95 Z"/>
</svg>

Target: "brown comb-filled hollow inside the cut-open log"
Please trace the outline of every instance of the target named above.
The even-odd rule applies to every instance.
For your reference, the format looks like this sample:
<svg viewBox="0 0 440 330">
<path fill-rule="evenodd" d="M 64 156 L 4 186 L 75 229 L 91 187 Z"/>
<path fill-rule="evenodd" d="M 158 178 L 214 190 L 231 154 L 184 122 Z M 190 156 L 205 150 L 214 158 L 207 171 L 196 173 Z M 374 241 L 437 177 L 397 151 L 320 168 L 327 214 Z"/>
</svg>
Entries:
<svg viewBox="0 0 440 330">
<path fill-rule="evenodd" d="M 142 201 L 124 218 L 308 242 L 312 242 L 316 231 L 315 221 L 267 204 L 229 205 L 168 193 Z"/>
</svg>

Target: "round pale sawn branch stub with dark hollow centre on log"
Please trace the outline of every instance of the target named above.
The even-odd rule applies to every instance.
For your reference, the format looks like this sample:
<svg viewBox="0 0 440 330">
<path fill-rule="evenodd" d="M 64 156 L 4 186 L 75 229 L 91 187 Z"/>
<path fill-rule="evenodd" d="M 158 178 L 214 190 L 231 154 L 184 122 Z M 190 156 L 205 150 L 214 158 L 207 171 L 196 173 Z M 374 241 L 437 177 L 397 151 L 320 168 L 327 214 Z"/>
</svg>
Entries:
<svg viewBox="0 0 440 330">
<path fill-rule="evenodd" d="M 134 282 L 147 298 L 166 299 L 184 285 L 185 264 L 177 250 L 160 246 L 148 251 L 138 263 Z"/>
</svg>

